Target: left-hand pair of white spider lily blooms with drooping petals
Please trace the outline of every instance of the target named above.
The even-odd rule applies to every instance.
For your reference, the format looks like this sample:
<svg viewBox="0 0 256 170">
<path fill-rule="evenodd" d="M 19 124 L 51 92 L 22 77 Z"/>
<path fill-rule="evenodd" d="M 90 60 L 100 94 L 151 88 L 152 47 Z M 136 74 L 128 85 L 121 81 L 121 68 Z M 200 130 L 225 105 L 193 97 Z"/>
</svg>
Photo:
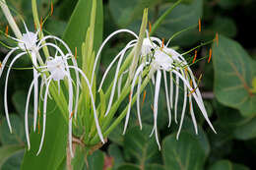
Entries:
<svg viewBox="0 0 256 170">
<path fill-rule="evenodd" d="M 54 87 L 56 84 L 58 85 L 58 94 L 60 95 L 60 82 L 63 81 L 65 85 L 68 86 L 68 112 L 69 112 L 69 143 L 70 143 L 70 150 L 72 153 L 72 119 L 73 115 L 75 118 L 77 117 L 78 111 L 78 103 L 79 103 L 79 95 L 80 95 L 80 87 L 81 87 L 81 80 L 80 76 L 83 81 L 85 81 L 86 85 L 88 85 L 90 90 L 91 101 L 94 110 L 94 116 L 96 120 L 96 129 L 98 132 L 98 136 L 103 141 L 103 137 L 101 134 L 101 130 L 98 124 L 97 115 L 96 115 L 96 105 L 94 101 L 94 96 L 92 92 L 92 87 L 90 85 L 90 81 L 84 72 L 78 68 L 76 57 L 72 54 L 68 45 L 59 37 L 54 35 L 46 35 L 41 39 L 38 39 L 38 32 L 37 30 L 35 33 L 29 31 L 26 24 L 24 24 L 26 28 L 26 33 L 22 34 L 22 37 L 15 38 L 8 35 L 9 38 L 14 39 L 18 42 L 17 47 L 11 48 L 10 52 L 6 55 L 3 62 L 1 63 L 0 69 L 0 78 L 2 73 L 7 66 L 8 60 L 10 57 L 13 56 L 14 52 L 17 51 L 18 53 L 14 56 L 11 60 L 10 64 L 8 65 L 7 75 L 5 80 L 5 87 L 4 87 L 4 108 L 6 113 L 6 118 L 8 122 L 8 126 L 10 132 L 12 133 L 12 126 L 9 119 L 9 110 L 8 110 L 8 103 L 7 103 L 7 89 L 8 89 L 8 80 L 9 75 L 12 67 L 16 63 L 18 59 L 21 57 L 31 57 L 32 59 L 32 72 L 33 72 L 33 80 L 32 84 L 29 88 L 29 92 L 27 95 L 27 103 L 26 103 L 26 110 L 25 110 L 25 130 L 26 130 L 26 138 L 28 142 L 28 148 L 31 148 L 30 136 L 29 136 L 29 122 L 28 122 L 28 113 L 29 113 L 29 105 L 30 99 L 33 89 L 33 131 L 36 129 L 36 122 L 37 122 L 37 110 L 38 110 L 38 100 L 41 98 L 43 101 L 43 126 L 42 126 L 42 136 L 41 142 L 39 145 L 39 149 L 37 154 L 40 152 L 45 135 L 45 124 L 46 124 L 46 112 L 47 112 L 47 98 L 51 95 L 50 86 Z M 63 50 L 56 44 L 52 42 L 45 42 L 46 40 L 53 39 L 54 41 L 58 41 L 62 46 L 65 47 L 65 50 L 68 51 L 67 54 L 63 52 Z M 41 57 L 40 50 L 44 47 L 51 47 L 55 51 L 55 56 L 44 56 Z M 69 60 L 71 60 L 72 64 L 69 64 Z M 76 79 L 74 80 L 71 76 L 71 70 L 75 71 Z M 39 91 L 39 80 L 40 80 L 40 91 Z M 73 82 L 76 81 L 76 85 L 73 85 Z M 44 94 L 43 94 L 44 89 Z M 76 90 L 76 91 L 74 91 Z M 40 97 L 40 98 L 39 98 Z M 74 99 L 75 98 L 75 101 Z M 75 103 L 75 104 L 74 104 Z M 72 153 L 73 154 L 73 153 Z"/>
</svg>

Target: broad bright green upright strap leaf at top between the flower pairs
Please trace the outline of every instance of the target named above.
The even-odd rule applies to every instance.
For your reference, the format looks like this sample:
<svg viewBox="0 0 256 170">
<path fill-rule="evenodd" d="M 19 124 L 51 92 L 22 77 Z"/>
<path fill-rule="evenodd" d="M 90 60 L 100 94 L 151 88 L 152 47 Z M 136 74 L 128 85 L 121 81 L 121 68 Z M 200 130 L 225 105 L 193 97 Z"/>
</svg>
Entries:
<svg viewBox="0 0 256 170">
<path fill-rule="evenodd" d="M 94 50 L 96 51 L 102 40 L 103 30 L 103 12 L 102 1 L 96 0 L 96 26 L 95 26 L 95 42 Z M 80 0 L 70 18 L 68 26 L 64 32 L 63 39 L 69 45 L 75 54 L 75 48 L 78 49 L 78 64 L 82 64 L 82 43 L 86 39 L 87 30 L 90 26 L 92 11 L 92 0 Z"/>
</svg>

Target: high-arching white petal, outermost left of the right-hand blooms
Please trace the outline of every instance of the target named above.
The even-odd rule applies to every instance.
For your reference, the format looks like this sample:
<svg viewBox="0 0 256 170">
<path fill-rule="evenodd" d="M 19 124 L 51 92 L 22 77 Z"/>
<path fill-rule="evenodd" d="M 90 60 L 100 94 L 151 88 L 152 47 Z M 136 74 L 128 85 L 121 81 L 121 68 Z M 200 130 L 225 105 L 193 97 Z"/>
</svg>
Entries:
<svg viewBox="0 0 256 170">
<path fill-rule="evenodd" d="M 93 69 L 93 74 L 92 74 L 92 79 L 91 79 L 91 85 L 93 85 L 94 82 L 94 78 L 95 78 L 95 72 L 96 72 L 96 65 L 97 65 L 97 60 L 99 59 L 100 53 L 103 49 L 103 47 L 105 46 L 105 44 L 108 42 L 108 40 L 113 37 L 115 34 L 121 33 L 121 32 L 128 32 L 132 35 L 134 35 L 136 37 L 136 39 L 138 39 L 138 35 L 136 33 L 134 33 L 133 31 L 129 30 L 129 29 L 118 29 L 114 32 L 112 32 L 110 35 L 108 35 L 105 40 L 101 43 L 101 46 L 99 47 L 97 53 L 96 53 L 96 60 L 95 60 L 95 64 L 94 64 L 94 69 Z"/>
</svg>

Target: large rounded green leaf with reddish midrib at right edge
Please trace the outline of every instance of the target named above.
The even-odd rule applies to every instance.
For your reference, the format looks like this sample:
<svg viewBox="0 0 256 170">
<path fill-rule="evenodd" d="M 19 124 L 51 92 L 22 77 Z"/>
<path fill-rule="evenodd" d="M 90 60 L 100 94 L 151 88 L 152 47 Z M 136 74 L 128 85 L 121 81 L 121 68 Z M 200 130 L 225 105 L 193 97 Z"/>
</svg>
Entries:
<svg viewBox="0 0 256 170">
<path fill-rule="evenodd" d="M 213 46 L 215 94 L 224 105 L 238 109 L 243 116 L 256 113 L 256 95 L 251 92 L 255 61 L 235 41 L 220 36 Z"/>
</svg>

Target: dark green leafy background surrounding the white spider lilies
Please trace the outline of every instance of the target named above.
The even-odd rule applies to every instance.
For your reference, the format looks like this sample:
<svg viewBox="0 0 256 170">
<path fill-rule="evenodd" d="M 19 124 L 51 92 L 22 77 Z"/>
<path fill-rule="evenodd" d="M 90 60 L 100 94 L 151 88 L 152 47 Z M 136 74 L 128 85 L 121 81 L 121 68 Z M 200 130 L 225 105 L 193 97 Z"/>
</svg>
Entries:
<svg viewBox="0 0 256 170">
<path fill-rule="evenodd" d="M 44 27 L 53 34 L 63 37 L 78 0 L 54 0 L 53 2 L 54 14 L 47 20 Z M 103 37 L 118 28 L 130 28 L 138 32 L 145 7 L 149 8 L 149 20 L 154 24 L 173 2 L 175 1 L 103 1 Z M 31 1 L 10 0 L 8 3 L 23 15 L 30 29 L 33 29 Z M 49 13 L 50 1 L 38 0 L 37 3 L 39 15 L 46 16 Z M 83 0 L 80 3 L 83 4 Z M 80 8 L 87 9 L 88 6 Z M 200 125 L 199 135 L 195 135 L 187 114 L 180 139 L 176 141 L 175 133 L 178 125 L 173 123 L 170 128 L 167 128 L 167 110 L 162 89 L 158 123 L 161 140 L 161 150 L 159 150 L 155 139 L 149 137 L 153 125 L 153 112 L 150 109 L 153 103 L 153 92 L 149 86 L 142 108 L 143 130 L 139 130 L 135 116 L 136 109 L 133 108 L 132 123 L 126 135 L 121 135 L 123 129 L 121 124 L 110 134 L 108 142 L 88 157 L 89 166 L 81 166 L 79 169 L 103 169 L 104 163 L 107 162 L 110 162 L 109 170 L 255 169 L 253 161 L 256 159 L 256 93 L 253 89 L 256 85 L 253 80 L 256 78 L 256 48 L 255 43 L 249 43 L 255 37 L 254 30 L 250 27 L 250 24 L 256 22 L 256 17 L 253 17 L 255 10 L 256 3 L 253 0 L 184 0 L 165 18 L 156 32 L 160 38 L 168 39 L 173 33 L 195 25 L 199 18 L 202 19 L 202 32 L 198 32 L 197 28 L 190 29 L 173 39 L 170 45 L 179 46 L 179 51 L 189 50 L 201 42 L 211 40 L 215 37 L 215 33 L 219 32 L 219 43 L 201 47 L 198 51 L 199 58 L 203 58 L 209 55 L 209 48 L 212 47 L 212 62 L 208 64 L 207 59 L 204 59 L 192 66 L 196 77 L 200 74 L 204 75 L 200 89 L 203 92 L 209 116 L 218 132 L 217 135 L 205 124 L 200 111 L 196 109 Z M 245 23 L 244 20 L 249 20 L 248 18 L 250 23 Z M 83 18 L 81 20 L 83 21 Z M 21 25 L 21 21 L 17 22 Z M 0 13 L 0 28 L 4 30 L 6 25 L 7 22 Z M 83 27 L 77 29 L 86 32 Z M 67 35 L 64 37 L 67 40 L 70 38 Z M 2 36 L 0 38 L 0 40 L 6 40 Z M 98 77 L 102 76 L 111 59 L 130 38 L 121 34 L 108 43 L 101 56 Z M 0 46 L 1 61 L 6 53 L 7 50 Z M 186 58 L 189 59 L 192 55 L 193 52 Z M 26 67 L 30 65 L 30 61 L 24 59 L 19 65 Z M 0 81 L 0 96 L 3 96 L 3 80 Z M 26 158 L 24 159 L 26 152 L 24 110 L 31 81 L 30 71 L 22 73 L 13 71 L 11 74 L 8 92 L 12 111 L 11 122 L 14 126 L 12 135 L 8 131 L 4 118 L 3 97 L 0 97 L 0 170 L 18 170 L 23 161 L 26 162 Z M 110 80 L 108 83 L 110 84 Z M 121 107 L 124 106 L 125 103 Z M 54 115 L 50 116 L 54 119 Z M 55 128 L 54 132 L 58 137 L 65 136 L 61 134 L 61 125 L 52 128 Z M 54 137 L 54 134 L 49 136 Z M 54 142 L 54 139 L 51 140 Z M 48 155 L 50 156 L 48 159 L 52 162 L 47 164 L 47 169 L 65 169 L 65 150 L 50 151 L 41 153 L 42 159 L 48 154 L 51 155 Z M 41 165 L 28 166 L 25 163 L 23 167 L 26 170 L 32 166 L 37 166 L 36 169 L 45 169 L 44 165 L 42 161 Z"/>
</svg>

